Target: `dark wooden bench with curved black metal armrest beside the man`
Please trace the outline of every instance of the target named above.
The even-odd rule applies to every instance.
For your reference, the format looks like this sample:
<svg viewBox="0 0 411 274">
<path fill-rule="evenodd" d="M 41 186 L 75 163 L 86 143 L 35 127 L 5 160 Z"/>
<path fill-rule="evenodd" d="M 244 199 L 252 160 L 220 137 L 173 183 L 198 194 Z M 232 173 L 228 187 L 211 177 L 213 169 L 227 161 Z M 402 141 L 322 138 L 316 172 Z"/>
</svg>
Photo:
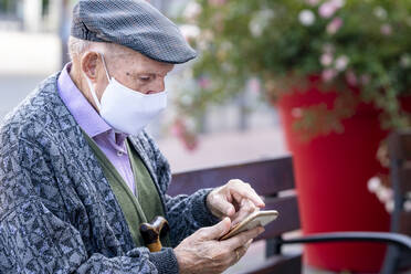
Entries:
<svg viewBox="0 0 411 274">
<path fill-rule="evenodd" d="M 294 191 L 293 159 L 289 156 L 175 173 L 169 194 L 190 194 L 201 188 L 219 187 L 230 179 L 250 182 L 257 193 L 264 197 L 265 209 L 275 209 L 280 212 L 277 221 L 268 224 L 257 239 L 266 241 L 267 260 L 257 268 L 246 270 L 244 273 L 301 273 L 302 254 L 284 254 L 282 252 L 284 244 L 367 241 L 390 243 L 400 252 L 411 250 L 411 239 L 398 233 L 322 233 L 284 240 L 284 233 L 301 229 L 297 196 Z"/>
</svg>

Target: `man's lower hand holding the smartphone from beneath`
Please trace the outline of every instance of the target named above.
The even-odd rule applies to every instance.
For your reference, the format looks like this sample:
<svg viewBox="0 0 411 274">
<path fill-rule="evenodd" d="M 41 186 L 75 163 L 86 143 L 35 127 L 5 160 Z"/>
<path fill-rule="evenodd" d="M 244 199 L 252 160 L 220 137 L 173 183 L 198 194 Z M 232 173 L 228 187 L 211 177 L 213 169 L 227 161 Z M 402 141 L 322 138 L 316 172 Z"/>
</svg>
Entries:
<svg viewBox="0 0 411 274">
<path fill-rule="evenodd" d="M 175 249 L 180 273 L 222 273 L 245 254 L 254 238 L 264 232 L 259 226 L 219 241 L 230 228 L 231 221 L 225 218 L 214 226 L 200 229 L 182 241 Z"/>
</svg>

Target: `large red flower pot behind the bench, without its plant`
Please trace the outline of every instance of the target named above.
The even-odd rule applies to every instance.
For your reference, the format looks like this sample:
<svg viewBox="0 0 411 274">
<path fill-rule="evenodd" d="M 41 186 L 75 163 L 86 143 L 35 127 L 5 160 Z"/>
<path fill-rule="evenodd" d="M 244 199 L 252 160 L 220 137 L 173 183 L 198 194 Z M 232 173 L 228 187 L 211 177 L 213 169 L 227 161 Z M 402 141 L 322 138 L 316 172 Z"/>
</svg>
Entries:
<svg viewBox="0 0 411 274">
<path fill-rule="evenodd" d="M 342 120 L 344 133 L 309 141 L 293 128 L 293 109 L 320 103 L 333 108 L 336 93 L 322 93 L 314 86 L 276 103 L 294 157 L 303 232 L 389 231 L 389 214 L 367 189 L 368 179 L 383 171 L 376 154 L 388 133 L 380 128 L 379 113 L 360 104 L 352 117 Z M 304 256 L 319 268 L 376 273 L 384 250 L 373 243 L 313 244 L 305 246 Z"/>
</svg>

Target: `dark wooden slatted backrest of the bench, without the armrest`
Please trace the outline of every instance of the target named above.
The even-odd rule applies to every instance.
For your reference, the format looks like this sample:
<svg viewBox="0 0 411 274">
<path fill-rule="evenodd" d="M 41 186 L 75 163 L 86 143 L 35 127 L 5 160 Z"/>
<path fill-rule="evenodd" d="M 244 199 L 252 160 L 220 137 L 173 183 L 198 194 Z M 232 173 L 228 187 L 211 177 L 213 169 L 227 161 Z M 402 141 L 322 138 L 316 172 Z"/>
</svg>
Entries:
<svg viewBox="0 0 411 274">
<path fill-rule="evenodd" d="M 283 233 L 301 228 L 297 207 L 297 197 L 294 191 L 293 159 L 291 156 L 257 160 L 241 165 L 205 168 L 172 176 L 169 194 L 191 194 L 202 188 L 215 188 L 224 185 L 230 179 L 241 179 L 249 182 L 256 192 L 263 197 L 266 210 L 280 212 L 277 221 L 265 226 L 265 232 L 257 240 L 268 240 L 267 255 L 278 254 L 273 239 L 281 238 Z M 272 273 L 272 265 L 278 265 L 278 273 L 297 273 L 301 268 L 301 256 L 282 257 L 280 262 L 262 265 L 252 273 Z M 270 260 L 268 260 L 270 264 Z M 292 270 L 291 272 L 288 270 Z"/>
</svg>

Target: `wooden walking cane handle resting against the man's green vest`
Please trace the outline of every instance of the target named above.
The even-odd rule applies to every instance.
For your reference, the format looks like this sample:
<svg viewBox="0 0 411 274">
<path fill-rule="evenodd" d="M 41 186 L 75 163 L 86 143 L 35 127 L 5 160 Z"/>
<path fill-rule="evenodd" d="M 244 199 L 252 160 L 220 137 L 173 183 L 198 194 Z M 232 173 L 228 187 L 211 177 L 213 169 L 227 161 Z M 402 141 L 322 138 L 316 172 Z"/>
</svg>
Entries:
<svg viewBox="0 0 411 274">
<path fill-rule="evenodd" d="M 164 217 L 156 217 L 150 223 L 143 223 L 140 225 L 140 233 L 146 246 L 150 252 L 161 251 L 160 235 L 170 230 L 167 220 Z"/>
</svg>

